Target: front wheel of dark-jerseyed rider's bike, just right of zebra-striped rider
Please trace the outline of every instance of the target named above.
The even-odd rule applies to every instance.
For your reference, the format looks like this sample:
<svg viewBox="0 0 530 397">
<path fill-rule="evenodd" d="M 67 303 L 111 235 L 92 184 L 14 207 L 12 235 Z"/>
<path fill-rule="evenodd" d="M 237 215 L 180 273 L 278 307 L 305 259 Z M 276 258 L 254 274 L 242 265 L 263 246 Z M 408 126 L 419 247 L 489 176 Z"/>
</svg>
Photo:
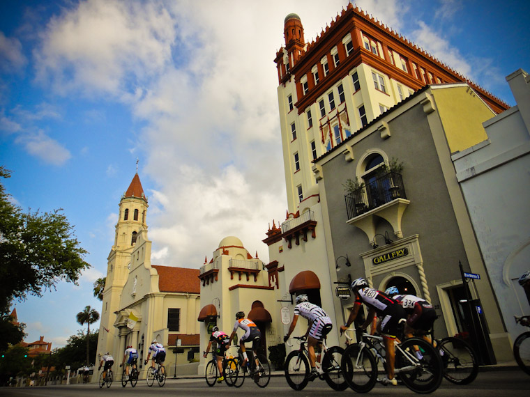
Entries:
<svg viewBox="0 0 530 397">
<path fill-rule="evenodd" d="M 358 343 L 349 345 L 342 352 L 340 361 L 346 384 L 357 393 L 368 393 L 377 382 L 377 363 L 367 348 Z"/>
</svg>

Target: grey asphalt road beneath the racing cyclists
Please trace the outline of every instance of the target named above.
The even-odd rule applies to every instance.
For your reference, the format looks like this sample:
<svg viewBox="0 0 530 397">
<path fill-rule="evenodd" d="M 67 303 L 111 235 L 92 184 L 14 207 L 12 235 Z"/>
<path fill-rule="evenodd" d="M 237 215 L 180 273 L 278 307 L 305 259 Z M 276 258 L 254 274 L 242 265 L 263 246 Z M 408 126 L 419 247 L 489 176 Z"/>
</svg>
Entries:
<svg viewBox="0 0 530 397">
<path fill-rule="evenodd" d="M 236 389 L 227 387 L 226 384 L 215 384 L 208 387 L 204 379 L 171 379 L 169 378 L 164 387 L 147 387 L 145 381 L 140 380 L 132 389 L 130 385 L 121 387 L 121 383 L 114 382 L 107 389 L 100 389 L 98 384 L 72 384 L 45 387 L 0 387 L 0 396 L 234 396 L 234 395 L 270 395 L 270 396 L 327 396 L 335 394 L 343 396 L 354 394 L 354 391 L 333 391 L 326 382 L 315 380 L 308 384 L 303 391 L 294 391 L 287 384 L 284 377 L 273 376 L 271 382 L 264 389 L 257 387 L 252 380 L 245 380 L 243 387 Z M 444 380 L 441 387 L 434 392 L 435 396 L 444 397 L 517 397 L 530 395 L 530 376 L 519 370 L 485 371 L 478 374 L 477 379 L 467 386 L 456 386 Z M 367 394 L 367 396 L 417 396 L 413 391 L 404 386 L 384 387 L 379 384 Z"/>
</svg>

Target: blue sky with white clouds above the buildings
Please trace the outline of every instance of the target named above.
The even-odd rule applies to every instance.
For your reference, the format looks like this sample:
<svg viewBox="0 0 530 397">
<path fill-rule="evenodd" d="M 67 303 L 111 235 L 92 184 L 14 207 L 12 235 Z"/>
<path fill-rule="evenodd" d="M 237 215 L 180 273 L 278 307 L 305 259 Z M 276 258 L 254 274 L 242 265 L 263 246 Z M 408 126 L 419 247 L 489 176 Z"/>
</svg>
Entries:
<svg viewBox="0 0 530 397">
<path fill-rule="evenodd" d="M 24 210 L 63 208 L 92 268 L 17 302 L 27 341 L 60 347 L 106 272 L 118 203 L 136 171 L 156 265 L 199 267 L 227 235 L 262 240 L 287 209 L 278 77 L 283 21 L 311 40 L 346 1 L 0 2 L 0 164 Z M 363 10 L 513 105 L 530 70 L 522 1 L 357 1 Z M 98 324 L 96 324 L 96 327 Z"/>
</svg>

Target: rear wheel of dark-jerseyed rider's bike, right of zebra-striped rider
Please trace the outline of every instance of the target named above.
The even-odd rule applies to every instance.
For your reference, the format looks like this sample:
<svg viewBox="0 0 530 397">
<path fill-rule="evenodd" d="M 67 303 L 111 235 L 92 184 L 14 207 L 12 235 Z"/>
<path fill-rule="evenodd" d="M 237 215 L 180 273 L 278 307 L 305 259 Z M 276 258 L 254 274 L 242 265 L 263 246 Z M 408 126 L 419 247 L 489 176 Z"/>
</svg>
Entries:
<svg viewBox="0 0 530 397">
<path fill-rule="evenodd" d="M 410 338 L 400 343 L 402 353 L 395 351 L 395 373 L 412 391 L 420 394 L 432 393 L 438 389 L 444 377 L 439 352 L 427 341 Z M 419 350 L 423 356 L 416 357 Z"/>
</svg>

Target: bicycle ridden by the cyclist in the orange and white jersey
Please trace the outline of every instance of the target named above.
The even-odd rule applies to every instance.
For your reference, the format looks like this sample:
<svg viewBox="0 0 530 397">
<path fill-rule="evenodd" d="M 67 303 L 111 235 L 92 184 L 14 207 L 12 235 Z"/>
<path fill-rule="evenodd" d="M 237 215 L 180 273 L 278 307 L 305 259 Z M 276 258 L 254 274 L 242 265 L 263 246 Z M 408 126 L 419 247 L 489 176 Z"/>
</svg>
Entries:
<svg viewBox="0 0 530 397">
<path fill-rule="evenodd" d="M 225 379 L 235 387 L 243 386 L 248 373 L 250 379 L 254 380 L 258 387 L 266 387 L 271 380 L 271 366 L 265 355 L 257 355 L 254 359 L 252 350 L 247 350 L 248 367 L 242 367 L 243 352 L 238 348 L 238 356 L 228 359 L 225 369 Z M 257 361 L 257 362 L 256 362 Z"/>
</svg>

